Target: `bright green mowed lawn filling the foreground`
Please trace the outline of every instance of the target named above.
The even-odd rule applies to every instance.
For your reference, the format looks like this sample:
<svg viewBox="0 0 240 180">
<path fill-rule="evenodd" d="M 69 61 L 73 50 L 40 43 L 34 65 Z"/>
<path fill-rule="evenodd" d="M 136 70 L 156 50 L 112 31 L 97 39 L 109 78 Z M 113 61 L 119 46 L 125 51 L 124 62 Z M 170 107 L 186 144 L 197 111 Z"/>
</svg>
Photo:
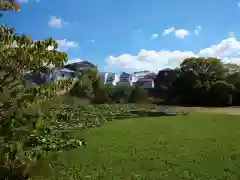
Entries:
<svg viewBox="0 0 240 180">
<path fill-rule="evenodd" d="M 84 133 L 85 148 L 42 163 L 35 180 L 239 179 L 240 116 L 115 120 Z M 228 178 L 227 178 L 228 176 Z"/>
</svg>

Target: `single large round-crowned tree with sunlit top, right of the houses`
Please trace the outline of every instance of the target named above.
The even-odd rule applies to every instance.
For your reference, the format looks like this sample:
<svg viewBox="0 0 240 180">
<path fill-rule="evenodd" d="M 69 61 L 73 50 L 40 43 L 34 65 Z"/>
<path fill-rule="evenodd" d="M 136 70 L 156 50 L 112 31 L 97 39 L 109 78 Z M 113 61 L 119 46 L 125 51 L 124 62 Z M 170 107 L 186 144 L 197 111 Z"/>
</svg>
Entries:
<svg viewBox="0 0 240 180">
<path fill-rule="evenodd" d="M 217 58 L 187 58 L 180 68 L 171 94 L 178 97 L 180 103 L 191 105 L 209 105 L 208 91 L 212 84 L 224 80 L 227 72 Z"/>
</svg>

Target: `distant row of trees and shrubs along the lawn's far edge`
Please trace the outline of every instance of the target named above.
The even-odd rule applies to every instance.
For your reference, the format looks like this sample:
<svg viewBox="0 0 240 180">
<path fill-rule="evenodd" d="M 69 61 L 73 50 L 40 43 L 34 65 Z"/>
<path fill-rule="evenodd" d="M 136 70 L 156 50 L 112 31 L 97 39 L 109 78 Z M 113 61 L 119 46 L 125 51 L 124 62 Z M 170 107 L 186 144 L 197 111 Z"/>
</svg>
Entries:
<svg viewBox="0 0 240 180">
<path fill-rule="evenodd" d="M 93 84 L 93 103 L 147 102 L 187 106 L 240 105 L 240 67 L 217 58 L 187 58 L 179 68 L 159 71 L 155 87 L 144 90 Z M 76 94 L 75 94 L 76 95 Z"/>
</svg>

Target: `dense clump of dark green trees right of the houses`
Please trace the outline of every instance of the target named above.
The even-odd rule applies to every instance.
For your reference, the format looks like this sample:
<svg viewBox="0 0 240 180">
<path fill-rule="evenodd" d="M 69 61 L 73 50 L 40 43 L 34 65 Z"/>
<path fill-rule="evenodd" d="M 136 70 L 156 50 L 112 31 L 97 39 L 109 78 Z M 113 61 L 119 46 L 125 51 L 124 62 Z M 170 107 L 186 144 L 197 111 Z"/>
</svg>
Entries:
<svg viewBox="0 0 240 180">
<path fill-rule="evenodd" d="M 193 106 L 239 105 L 240 69 L 236 64 L 224 64 L 217 58 L 187 58 L 176 76 L 168 79 L 165 95 L 162 91 L 156 97 L 164 97 L 165 103 Z M 160 72 L 159 72 L 160 73 Z M 157 90 L 159 88 L 156 87 Z"/>
</svg>

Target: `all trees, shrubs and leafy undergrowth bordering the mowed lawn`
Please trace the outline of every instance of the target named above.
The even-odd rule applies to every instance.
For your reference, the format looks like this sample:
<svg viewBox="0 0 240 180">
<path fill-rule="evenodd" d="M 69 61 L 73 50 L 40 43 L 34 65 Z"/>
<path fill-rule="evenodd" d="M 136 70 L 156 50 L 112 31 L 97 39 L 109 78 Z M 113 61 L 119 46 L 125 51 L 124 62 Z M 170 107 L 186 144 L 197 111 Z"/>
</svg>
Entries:
<svg viewBox="0 0 240 180">
<path fill-rule="evenodd" d="M 68 61 L 67 54 L 57 50 L 52 38 L 36 41 L 5 25 L 0 27 L 0 43 L 0 179 L 28 178 L 42 158 L 82 146 L 85 141 L 74 138 L 72 132 L 100 126 L 128 113 L 127 108 L 116 105 L 119 102 L 240 104 L 240 68 L 217 58 L 185 59 L 179 68 L 171 70 L 172 76 L 159 78 L 160 72 L 151 90 L 137 85 L 103 85 L 97 67 L 80 73 L 74 85 L 69 79 L 29 86 L 27 73 L 44 73 L 49 66 L 62 67 Z M 68 100 L 86 97 L 92 104 L 59 103 L 56 99 L 62 89 L 69 91 Z"/>
</svg>

